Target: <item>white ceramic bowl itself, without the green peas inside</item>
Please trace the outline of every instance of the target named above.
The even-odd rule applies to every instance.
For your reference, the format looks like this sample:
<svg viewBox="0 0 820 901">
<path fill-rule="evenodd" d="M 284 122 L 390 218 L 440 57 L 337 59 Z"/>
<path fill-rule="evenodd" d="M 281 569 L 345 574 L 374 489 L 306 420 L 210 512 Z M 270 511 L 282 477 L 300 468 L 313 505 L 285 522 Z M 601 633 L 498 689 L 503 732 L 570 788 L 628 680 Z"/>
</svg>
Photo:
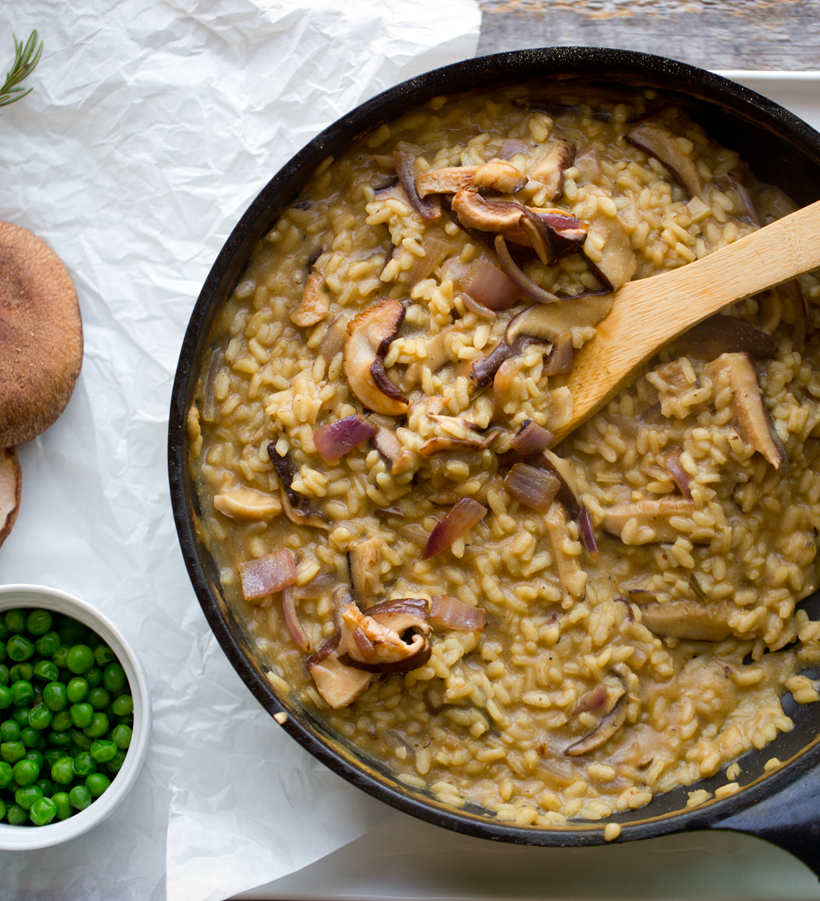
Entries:
<svg viewBox="0 0 820 901">
<path fill-rule="evenodd" d="M 151 703 L 148 683 L 134 651 L 119 629 L 99 610 L 64 591 L 41 585 L 0 585 L 0 615 L 15 607 L 42 607 L 63 613 L 88 626 L 100 636 L 117 655 L 128 677 L 134 699 L 134 725 L 131 746 L 119 773 L 111 780 L 108 790 L 85 810 L 67 820 L 54 821 L 48 826 L 10 826 L 0 823 L 0 850 L 33 851 L 48 848 L 77 838 L 108 817 L 128 794 L 136 782 L 148 753 L 151 734 Z"/>
</svg>

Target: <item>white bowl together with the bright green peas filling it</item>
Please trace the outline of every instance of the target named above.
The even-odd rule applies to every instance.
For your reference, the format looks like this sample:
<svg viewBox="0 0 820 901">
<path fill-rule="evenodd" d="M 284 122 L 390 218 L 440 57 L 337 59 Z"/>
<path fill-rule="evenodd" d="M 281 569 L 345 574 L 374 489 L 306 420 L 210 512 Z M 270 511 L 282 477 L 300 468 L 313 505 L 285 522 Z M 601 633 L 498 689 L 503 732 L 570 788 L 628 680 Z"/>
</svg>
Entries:
<svg viewBox="0 0 820 901">
<path fill-rule="evenodd" d="M 0 850 L 87 832 L 148 752 L 148 684 L 128 642 L 85 601 L 0 586 Z"/>
</svg>

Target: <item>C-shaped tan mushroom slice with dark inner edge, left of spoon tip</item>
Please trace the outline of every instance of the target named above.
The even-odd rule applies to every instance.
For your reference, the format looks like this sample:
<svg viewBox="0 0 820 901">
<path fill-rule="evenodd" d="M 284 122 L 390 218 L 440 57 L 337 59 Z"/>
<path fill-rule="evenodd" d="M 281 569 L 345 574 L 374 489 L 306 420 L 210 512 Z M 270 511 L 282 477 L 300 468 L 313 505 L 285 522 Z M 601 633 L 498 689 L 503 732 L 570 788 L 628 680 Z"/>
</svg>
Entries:
<svg viewBox="0 0 820 901">
<path fill-rule="evenodd" d="M 407 398 L 387 377 L 384 355 L 404 320 L 398 300 L 372 304 L 348 325 L 344 372 L 353 394 L 368 410 L 385 416 L 403 416 Z"/>
</svg>

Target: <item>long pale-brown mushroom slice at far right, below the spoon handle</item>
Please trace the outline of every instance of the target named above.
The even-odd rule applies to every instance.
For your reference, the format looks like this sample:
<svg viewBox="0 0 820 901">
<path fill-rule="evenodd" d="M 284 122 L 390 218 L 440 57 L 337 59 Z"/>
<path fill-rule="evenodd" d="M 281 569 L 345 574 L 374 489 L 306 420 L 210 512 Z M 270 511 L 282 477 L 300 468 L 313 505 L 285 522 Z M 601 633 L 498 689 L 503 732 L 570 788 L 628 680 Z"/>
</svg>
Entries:
<svg viewBox="0 0 820 901">
<path fill-rule="evenodd" d="M 745 433 L 746 440 L 781 475 L 787 476 L 789 458 L 772 425 L 760 390 L 757 370 L 749 354 L 721 354 L 716 360 L 707 363 L 703 371 L 713 382 L 721 377 L 726 379 L 732 391 L 732 406 L 737 424 Z"/>
</svg>

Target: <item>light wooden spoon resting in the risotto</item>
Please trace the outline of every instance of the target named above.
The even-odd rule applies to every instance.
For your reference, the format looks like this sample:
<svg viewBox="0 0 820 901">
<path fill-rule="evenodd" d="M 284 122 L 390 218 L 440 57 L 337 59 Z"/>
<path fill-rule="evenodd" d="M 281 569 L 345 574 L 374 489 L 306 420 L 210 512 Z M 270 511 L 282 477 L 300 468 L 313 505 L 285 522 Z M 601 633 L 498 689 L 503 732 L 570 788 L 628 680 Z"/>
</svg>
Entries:
<svg viewBox="0 0 820 901">
<path fill-rule="evenodd" d="M 820 267 L 820 201 L 671 272 L 628 282 L 575 357 L 566 437 L 679 335 L 743 297 Z"/>
</svg>

